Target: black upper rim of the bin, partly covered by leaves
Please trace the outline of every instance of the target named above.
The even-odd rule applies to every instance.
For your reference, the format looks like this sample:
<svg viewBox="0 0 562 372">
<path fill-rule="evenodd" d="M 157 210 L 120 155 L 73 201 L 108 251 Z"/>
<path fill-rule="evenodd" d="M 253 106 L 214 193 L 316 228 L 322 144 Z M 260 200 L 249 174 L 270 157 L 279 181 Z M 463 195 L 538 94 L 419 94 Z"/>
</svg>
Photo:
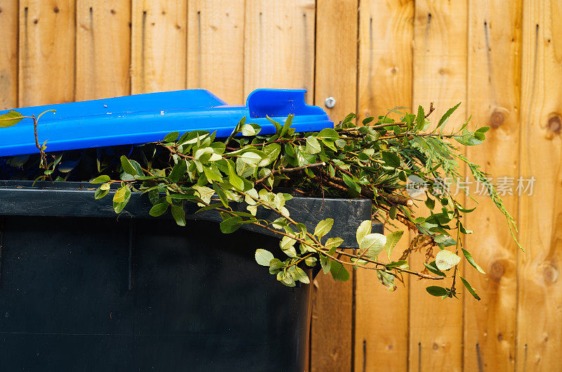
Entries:
<svg viewBox="0 0 562 372">
<path fill-rule="evenodd" d="M 89 182 L 71 181 L 6 181 L 0 180 L 0 218 L 8 216 L 40 217 L 102 217 L 113 219 L 151 219 L 148 211 L 152 204 L 148 195 L 133 192 L 125 209 L 116 214 L 112 205 L 112 193 L 106 198 L 96 200 L 96 187 Z M 232 203 L 235 209 L 245 210 L 244 203 Z M 285 204 L 291 216 L 303 222 L 307 229 L 313 231 L 322 219 L 335 220 L 332 231 L 327 238 L 338 236 L 344 239 L 342 248 L 358 248 L 355 231 L 361 222 L 371 219 L 372 202 L 370 199 L 354 198 L 313 198 L 295 196 Z M 195 203 L 185 203 L 186 220 L 204 220 L 221 222 L 218 212 L 207 210 L 198 212 Z M 259 219 L 273 221 L 279 217 L 271 210 L 260 208 Z M 165 214 L 162 217 L 171 217 Z M 173 221 L 170 221 L 174 224 Z M 257 231 L 270 236 L 277 234 L 251 224 L 242 225 L 242 229 Z M 373 232 L 382 233 L 381 224 L 373 225 Z"/>
</svg>

